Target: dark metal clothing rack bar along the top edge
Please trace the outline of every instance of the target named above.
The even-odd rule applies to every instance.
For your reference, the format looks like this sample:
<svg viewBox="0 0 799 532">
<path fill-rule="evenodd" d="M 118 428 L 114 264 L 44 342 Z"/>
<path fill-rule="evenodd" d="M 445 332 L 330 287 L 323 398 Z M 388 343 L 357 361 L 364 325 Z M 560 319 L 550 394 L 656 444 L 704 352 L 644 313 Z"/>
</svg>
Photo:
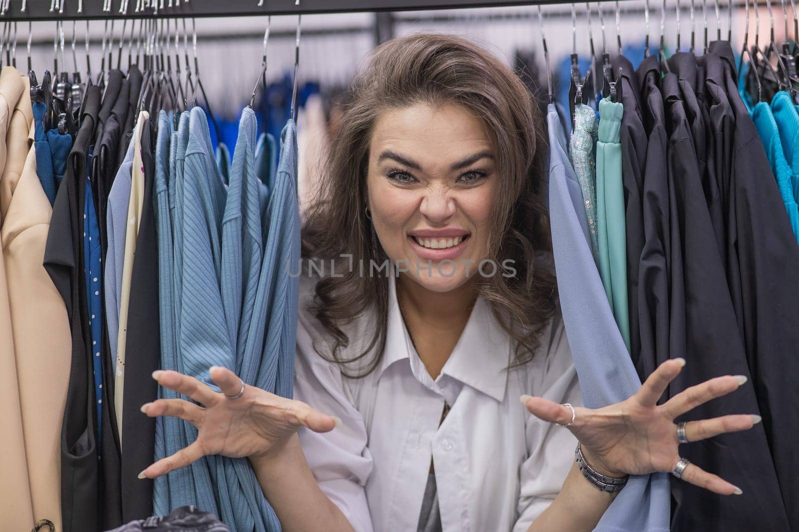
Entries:
<svg viewBox="0 0 799 532">
<path fill-rule="evenodd" d="M 55 0 L 58 3 L 59 0 Z M 579 3 L 587 0 L 578 0 Z M 158 3 L 153 7 L 136 10 L 139 0 L 109 0 L 109 10 L 103 9 L 103 0 L 60 0 L 60 7 L 50 10 L 44 0 L 20 0 L 10 2 L 0 21 L 55 21 L 55 20 L 105 20 L 109 18 L 174 18 L 174 17 L 264 17 L 267 15 L 290 14 L 334 14 L 353 12 L 416 11 L 468 9 L 476 7 L 535 6 L 562 4 L 563 0 L 152 0 Z M 121 3 L 127 2 L 127 10 L 121 10 Z M 652 1 L 654 9 L 658 2 Z M 25 11 L 22 11 L 24 4 Z"/>
</svg>

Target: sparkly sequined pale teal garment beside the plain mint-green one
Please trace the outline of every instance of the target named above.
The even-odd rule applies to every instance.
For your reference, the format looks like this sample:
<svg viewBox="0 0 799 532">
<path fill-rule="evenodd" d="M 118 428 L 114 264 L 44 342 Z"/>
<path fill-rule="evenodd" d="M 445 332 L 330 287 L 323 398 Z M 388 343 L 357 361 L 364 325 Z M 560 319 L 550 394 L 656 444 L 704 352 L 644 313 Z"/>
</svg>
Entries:
<svg viewBox="0 0 799 532">
<path fill-rule="evenodd" d="M 582 191 L 582 203 L 586 209 L 588 232 L 591 237 L 591 254 L 599 260 L 597 234 L 597 190 L 596 190 L 596 145 L 597 116 L 588 105 L 574 106 L 574 131 L 569 141 L 569 157 Z"/>
</svg>

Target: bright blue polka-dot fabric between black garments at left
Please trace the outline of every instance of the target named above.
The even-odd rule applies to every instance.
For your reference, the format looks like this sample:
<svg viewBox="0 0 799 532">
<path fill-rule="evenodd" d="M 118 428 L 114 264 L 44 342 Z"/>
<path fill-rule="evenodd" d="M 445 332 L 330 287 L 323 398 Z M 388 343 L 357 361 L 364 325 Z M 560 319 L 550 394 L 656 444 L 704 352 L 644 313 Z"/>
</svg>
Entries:
<svg viewBox="0 0 799 532">
<path fill-rule="evenodd" d="M 89 307 L 89 330 L 91 332 L 91 353 L 94 372 L 94 395 L 97 401 L 97 441 L 102 438 L 102 360 L 100 359 L 100 346 L 102 345 L 102 264 L 100 248 L 100 228 L 97 225 L 97 212 L 94 209 L 92 182 L 89 178 L 89 169 L 92 155 L 86 163 L 86 192 L 83 206 L 83 273 L 86 280 L 86 301 Z M 100 452 L 99 447 L 97 453 Z"/>
</svg>

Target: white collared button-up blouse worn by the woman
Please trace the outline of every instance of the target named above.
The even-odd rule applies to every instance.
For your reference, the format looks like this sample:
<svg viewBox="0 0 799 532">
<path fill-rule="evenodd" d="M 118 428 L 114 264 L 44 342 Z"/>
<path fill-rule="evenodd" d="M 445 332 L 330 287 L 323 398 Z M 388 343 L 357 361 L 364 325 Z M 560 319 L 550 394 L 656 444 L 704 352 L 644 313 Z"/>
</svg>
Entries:
<svg viewBox="0 0 799 532">
<path fill-rule="evenodd" d="M 577 440 L 529 414 L 522 394 L 582 405 L 562 318 L 522 367 L 487 301 L 477 300 L 455 350 L 433 380 L 419 359 L 389 276 L 388 333 L 370 375 L 349 379 L 318 355 L 330 339 L 308 312 L 316 279 L 300 280 L 294 397 L 342 420 L 326 434 L 300 430 L 308 465 L 356 532 L 415 532 L 435 463 L 443 532 L 522 532 L 559 493 Z M 349 324 L 345 359 L 360 354 L 375 317 Z M 444 402 L 451 406 L 439 427 Z"/>
</svg>

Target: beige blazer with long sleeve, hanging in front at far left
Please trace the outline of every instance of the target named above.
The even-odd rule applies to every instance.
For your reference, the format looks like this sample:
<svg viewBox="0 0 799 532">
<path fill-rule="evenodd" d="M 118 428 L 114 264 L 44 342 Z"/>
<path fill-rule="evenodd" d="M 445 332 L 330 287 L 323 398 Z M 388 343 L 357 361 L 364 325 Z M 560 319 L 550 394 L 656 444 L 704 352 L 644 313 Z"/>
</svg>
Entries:
<svg viewBox="0 0 799 532">
<path fill-rule="evenodd" d="M 10 299 L 34 520 L 61 530 L 61 427 L 70 380 L 72 342 L 64 300 L 42 262 L 53 208 L 36 173 L 33 113 L 25 91 L 6 144 L 27 153 L 21 173 L 6 165 L 3 190 L 12 190 L 0 228 Z M 22 136 L 24 125 L 28 134 Z M 24 149 L 30 146 L 26 152 Z M 9 157 L 11 161 L 11 157 Z M 16 157 L 14 157 L 16 162 Z M 4 203 L 5 204 L 5 203 Z"/>
</svg>

